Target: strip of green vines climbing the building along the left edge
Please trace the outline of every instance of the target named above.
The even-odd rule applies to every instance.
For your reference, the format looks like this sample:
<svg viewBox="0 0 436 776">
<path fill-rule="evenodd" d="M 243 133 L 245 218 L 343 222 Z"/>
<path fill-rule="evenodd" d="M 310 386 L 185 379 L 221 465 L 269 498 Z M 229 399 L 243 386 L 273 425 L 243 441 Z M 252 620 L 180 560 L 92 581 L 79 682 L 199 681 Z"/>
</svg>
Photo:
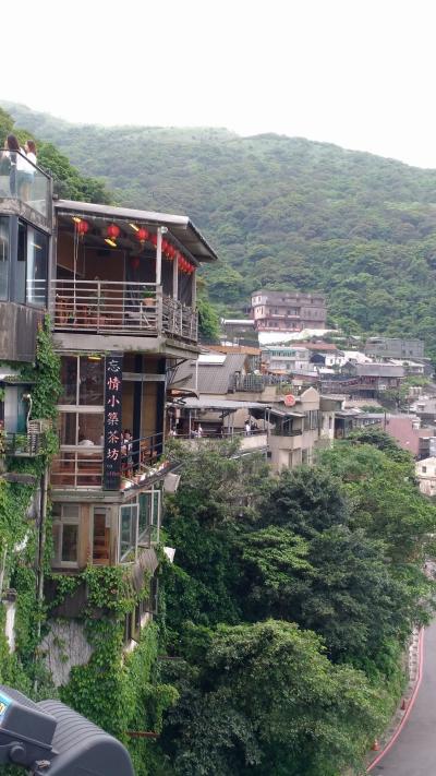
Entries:
<svg viewBox="0 0 436 776">
<path fill-rule="evenodd" d="M 0 116 L 1 122 L 1 116 Z M 53 351 L 49 333 L 49 320 L 40 326 L 36 338 L 35 365 L 21 365 L 22 378 L 32 382 L 33 418 L 53 421 L 56 403 L 59 396 L 59 357 Z M 16 592 L 15 647 L 9 653 L 4 629 L 0 635 L 0 681 L 10 683 L 23 692 L 39 697 L 53 694 L 50 678 L 44 668 L 39 655 L 40 625 L 44 624 L 46 610 L 37 600 L 36 558 L 39 541 L 39 526 L 33 515 L 34 499 L 39 499 L 43 471 L 51 459 L 56 449 L 56 434 L 47 434 L 44 453 L 35 458 L 14 457 L 2 462 L 9 471 L 32 475 L 35 486 L 8 482 L 0 479 L 0 548 L 2 589 Z M 49 511 L 49 510 L 48 510 Z M 46 524 L 47 541 L 43 565 L 50 565 L 51 525 Z M 1 619 L 4 618 L 3 607 Z"/>
</svg>

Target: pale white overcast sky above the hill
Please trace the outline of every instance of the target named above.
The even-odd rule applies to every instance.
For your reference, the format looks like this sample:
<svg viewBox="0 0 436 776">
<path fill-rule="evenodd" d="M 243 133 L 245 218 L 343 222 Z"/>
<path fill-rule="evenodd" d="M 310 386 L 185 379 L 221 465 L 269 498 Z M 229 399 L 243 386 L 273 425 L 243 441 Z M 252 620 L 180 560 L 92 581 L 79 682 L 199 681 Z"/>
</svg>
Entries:
<svg viewBox="0 0 436 776">
<path fill-rule="evenodd" d="M 434 0 L 22 0 L 0 97 L 70 121 L 278 132 L 436 167 Z"/>
</svg>

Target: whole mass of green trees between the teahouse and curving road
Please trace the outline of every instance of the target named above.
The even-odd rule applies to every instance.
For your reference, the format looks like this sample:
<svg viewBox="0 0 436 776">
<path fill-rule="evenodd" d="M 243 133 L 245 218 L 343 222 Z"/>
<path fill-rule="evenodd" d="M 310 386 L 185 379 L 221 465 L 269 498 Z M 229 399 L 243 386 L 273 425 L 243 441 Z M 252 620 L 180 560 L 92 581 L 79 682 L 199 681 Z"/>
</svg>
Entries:
<svg viewBox="0 0 436 776">
<path fill-rule="evenodd" d="M 164 772 L 337 776 L 389 718 L 432 609 L 436 510 L 411 458 L 371 430 L 277 478 L 231 446 L 178 456 Z"/>
</svg>

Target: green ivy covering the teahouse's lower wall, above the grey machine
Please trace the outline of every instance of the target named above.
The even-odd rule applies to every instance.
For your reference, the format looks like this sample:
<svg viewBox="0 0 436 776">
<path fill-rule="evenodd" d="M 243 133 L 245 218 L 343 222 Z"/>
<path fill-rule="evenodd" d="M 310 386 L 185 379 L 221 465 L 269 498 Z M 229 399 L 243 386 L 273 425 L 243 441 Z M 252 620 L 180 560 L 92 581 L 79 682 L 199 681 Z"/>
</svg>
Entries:
<svg viewBox="0 0 436 776">
<path fill-rule="evenodd" d="M 58 605 L 71 594 L 62 574 L 53 574 Z M 130 739 L 128 732 L 148 730 L 159 733 L 162 713 L 178 699 L 177 690 L 159 681 L 159 631 L 150 623 L 143 629 L 140 643 L 130 655 L 123 654 L 124 617 L 146 595 L 145 575 L 142 595 L 137 594 L 123 566 L 93 568 L 74 577 L 74 586 L 86 584 L 87 606 L 83 623 L 93 655 L 84 666 L 75 666 L 70 681 L 61 688 L 62 700 L 117 736 L 130 749 L 137 776 L 154 773 L 153 744 L 145 739 Z"/>
</svg>

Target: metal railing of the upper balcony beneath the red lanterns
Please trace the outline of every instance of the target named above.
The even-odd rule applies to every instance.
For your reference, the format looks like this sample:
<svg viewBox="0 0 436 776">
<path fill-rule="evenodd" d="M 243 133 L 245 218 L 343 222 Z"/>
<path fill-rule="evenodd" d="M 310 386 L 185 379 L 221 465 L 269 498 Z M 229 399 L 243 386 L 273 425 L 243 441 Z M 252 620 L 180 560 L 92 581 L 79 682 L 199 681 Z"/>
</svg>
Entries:
<svg viewBox="0 0 436 776">
<path fill-rule="evenodd" d="M 197 339 L 197 313 L 155 283 L 52 280 L 51 317 L 56 330 Z"/>
</svg>

